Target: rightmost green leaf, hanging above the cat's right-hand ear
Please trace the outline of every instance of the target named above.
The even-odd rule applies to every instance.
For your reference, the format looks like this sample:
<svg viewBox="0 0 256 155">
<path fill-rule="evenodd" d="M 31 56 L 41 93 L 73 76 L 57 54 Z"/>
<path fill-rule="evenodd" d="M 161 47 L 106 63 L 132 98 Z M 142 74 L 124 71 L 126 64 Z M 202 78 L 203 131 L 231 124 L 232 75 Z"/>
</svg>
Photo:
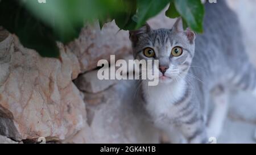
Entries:
<svg viewBox="0 0 256 155">
<path fill-rule="evenodd" d="M 174 0 L 175 8 L 195 32 L 203 32 L 204 5 L 200 0 Z"/>
</svg>

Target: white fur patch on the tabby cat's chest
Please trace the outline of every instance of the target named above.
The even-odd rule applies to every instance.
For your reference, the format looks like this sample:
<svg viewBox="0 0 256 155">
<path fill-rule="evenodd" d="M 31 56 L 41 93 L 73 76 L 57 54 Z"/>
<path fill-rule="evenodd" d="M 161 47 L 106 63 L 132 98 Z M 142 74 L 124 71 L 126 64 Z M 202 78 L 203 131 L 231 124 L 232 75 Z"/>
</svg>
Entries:
<svg viewBox="0 0 256 155">
<path fill-rule="evenodd" d="M 159 84 L 148 87 L 143 85 L 144 98 L 146 100 L 146 110 L 154 121 L 164 117 L 175 118 L 177 116 L 176 103 L 185 94 L 185 82 L 170 84 Z"/>
</svg>

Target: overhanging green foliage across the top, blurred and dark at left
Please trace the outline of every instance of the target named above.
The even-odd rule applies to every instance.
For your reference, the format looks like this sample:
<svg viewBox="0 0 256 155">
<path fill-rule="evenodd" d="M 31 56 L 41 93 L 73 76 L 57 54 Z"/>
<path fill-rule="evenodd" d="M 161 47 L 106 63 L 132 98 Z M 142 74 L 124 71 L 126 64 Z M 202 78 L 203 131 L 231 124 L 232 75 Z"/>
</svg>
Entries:
<svg viewBox="0 0 256 155">
<path fill-rule="evenodd" d="M 56 41 L 72 41 L 86 23 L 98 20 L 102 28 L 115 20 L 121 30 L 134 30 L 168 3 L 168 17 L 182 16 L 185 26 L 203 32 L 204 6 L 200 0 L 0 0 L 0 25 L 41 56 L 59 57 Z"/>
</svg>

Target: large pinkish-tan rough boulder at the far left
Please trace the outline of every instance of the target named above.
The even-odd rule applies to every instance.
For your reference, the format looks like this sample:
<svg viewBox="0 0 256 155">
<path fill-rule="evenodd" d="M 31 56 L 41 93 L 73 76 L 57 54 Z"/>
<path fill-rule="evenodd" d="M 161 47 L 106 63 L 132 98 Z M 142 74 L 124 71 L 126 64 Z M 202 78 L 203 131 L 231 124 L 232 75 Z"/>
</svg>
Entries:
<svg viewBox="0 0 256 155">
<path fill-rule="evenodd" d="M 79 60 L 58 45 L 62 62 L 24 48 L 15 35 L 0 42 L 0 135 L 64 140 L 84 127 L 85 103 L 72 82 Z"/>
</svg>

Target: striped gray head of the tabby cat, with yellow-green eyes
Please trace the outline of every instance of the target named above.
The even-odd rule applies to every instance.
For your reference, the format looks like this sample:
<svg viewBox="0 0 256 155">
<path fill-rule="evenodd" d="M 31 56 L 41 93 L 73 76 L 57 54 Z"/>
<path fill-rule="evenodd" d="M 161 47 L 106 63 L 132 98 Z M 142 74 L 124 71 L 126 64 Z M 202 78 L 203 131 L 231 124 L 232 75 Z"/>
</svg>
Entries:
<svg viewBox="0 0 256 155">
<path fill-rule="evenodd" d="M 159 82 L 170 83 L 183 78 L 195 53 L 196 35 L 184 31 L 182 19 L 178 18 L 171 29 L 152 28 L 146 24 L 130 31 L 133 55 L 137 60 L 159 60 Z"/>
</svg>

